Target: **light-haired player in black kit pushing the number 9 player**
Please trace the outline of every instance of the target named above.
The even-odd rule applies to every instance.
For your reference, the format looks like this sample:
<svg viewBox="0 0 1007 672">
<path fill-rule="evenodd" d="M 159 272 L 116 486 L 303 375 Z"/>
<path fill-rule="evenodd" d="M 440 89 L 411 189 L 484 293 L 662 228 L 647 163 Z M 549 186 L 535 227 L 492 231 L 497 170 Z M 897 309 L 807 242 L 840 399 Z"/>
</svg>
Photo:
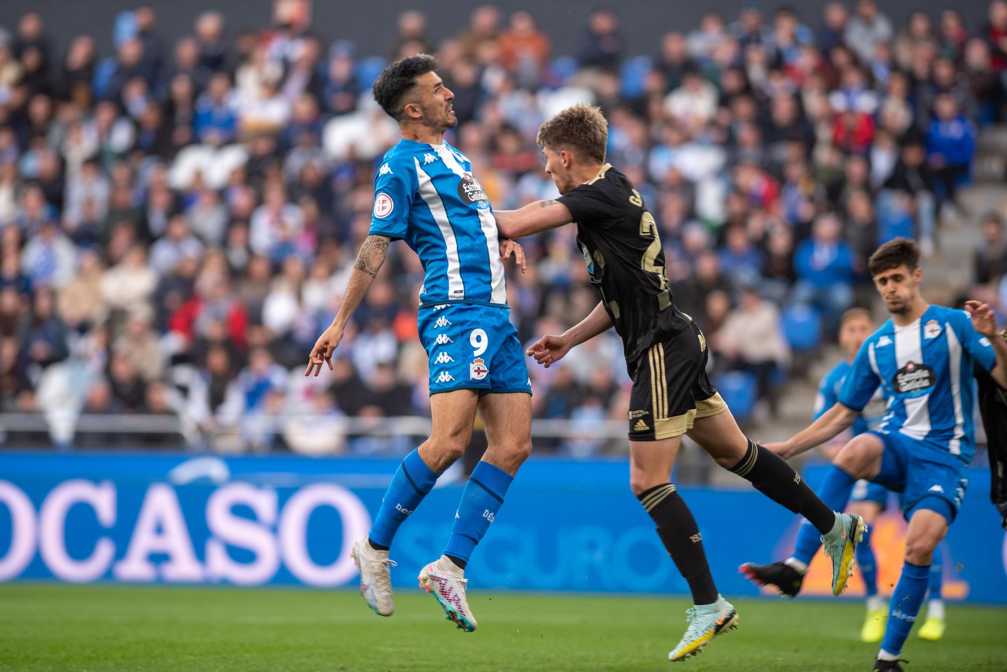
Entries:
<svg viewBox="0 0 1007 672">
<path fill-rule="evenodd" d="M 846 583 L 863 522 L 832 511 L 782 458 L 738 429 L 707 377 L 703 333 L 675 306 L 657 222 L 626 176 L 605 163 L 607 139 L 608 124 L 594 107 L 573 106 L 543 124 L 538 144 L 545 170 L 562 195 L 519 210 L 497 210 L 496 224 L 501 235 L 517 238 L 577 222 L 577 244 L 601 301 L 566 333 L 543 336 L 528 354 L 548 367 L 610 327 L 622 338 L 633 381 L 630 487 L 689 582 L 695 605 L 682 641 L 668 655 L 679 661 L 738 622 L 734 607 L 714 585 L 696 521 L 669 482 L 682 435 L 819 529 L 824 543 L 838 551 L 831 555 L 841 558 L 833 571 L 837 595 Z"/>
</svg>

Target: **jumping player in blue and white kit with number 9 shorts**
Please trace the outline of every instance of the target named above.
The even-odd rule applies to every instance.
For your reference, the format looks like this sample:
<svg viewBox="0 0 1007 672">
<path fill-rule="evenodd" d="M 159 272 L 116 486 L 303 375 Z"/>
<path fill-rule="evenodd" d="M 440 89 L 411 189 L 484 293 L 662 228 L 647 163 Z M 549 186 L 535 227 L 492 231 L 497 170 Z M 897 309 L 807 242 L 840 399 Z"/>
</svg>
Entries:
<svg viewBox="0 0 1007 672">
<path fill-rule="evenodd" d="M 524 267 L 524 253 L 511 240 L 498 240 L 492 208 L 471 164 L 444 142 L 444 132 L 458 121 L 454 95 L 436 66 L 433 56 L 409 56 L 375 80 L 375 100 L 399 122 L 402 140 L 385 155 L 375 177 L 371 231 L 304 374 L 318 375 L 323 363 L 332 367 L 332 352 L 385 262 L 389 242 L 404 239 L 425 274 L 419 333 L 430 360 L 433 423 L 430 438 L 402 461 L 370 533 L 351 554 L 364 598 L 379 615 L 391 616 L 392 538 L 437 477 L 461 457 L 477 409 L 488 448 L 462 492 L 443 555 L 419 575 L 421 587 L 437 599 L 447 618 L 471 632 L 476 622 L 465 598 L 465 564 L 532 450 L 531 380 L 510 321 L 502 264 L 514 255 Z"/>
</svg>

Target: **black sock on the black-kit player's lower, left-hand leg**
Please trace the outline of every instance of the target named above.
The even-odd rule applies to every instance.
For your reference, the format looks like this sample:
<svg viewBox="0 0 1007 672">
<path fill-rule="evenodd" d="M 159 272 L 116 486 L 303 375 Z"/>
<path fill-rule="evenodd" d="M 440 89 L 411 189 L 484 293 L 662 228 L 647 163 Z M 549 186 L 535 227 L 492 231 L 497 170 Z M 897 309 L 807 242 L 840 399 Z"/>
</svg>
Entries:
<svg viewBox="0 0 1007 672">
<path fill-rule="evenodd" d="M 717 586 L 713 584 L 710 565 L 706 561 L 699 526 L 675 486 L 665 483 L 640 493 L 637 498 L 658 524 L 658 536 L 689 582 L 693 603 L 712 605 L 717 602 Z"/>
</svg>

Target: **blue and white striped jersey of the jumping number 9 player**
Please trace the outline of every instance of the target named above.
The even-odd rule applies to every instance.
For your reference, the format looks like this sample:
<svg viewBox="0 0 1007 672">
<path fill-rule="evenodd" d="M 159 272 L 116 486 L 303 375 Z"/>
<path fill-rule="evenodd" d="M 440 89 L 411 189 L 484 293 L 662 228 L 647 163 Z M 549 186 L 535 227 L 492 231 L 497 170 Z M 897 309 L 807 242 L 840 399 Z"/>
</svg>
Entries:
<svg viewBox="0 0 1007 672">
<path fill-rule="evenodd" d="M 447 143 L 401 140 L 375 176 L 371 233 L 403 239 L 425 272 L 420 307 L 507 306 L 496 220 L 472 164 Z"/>
</svg>

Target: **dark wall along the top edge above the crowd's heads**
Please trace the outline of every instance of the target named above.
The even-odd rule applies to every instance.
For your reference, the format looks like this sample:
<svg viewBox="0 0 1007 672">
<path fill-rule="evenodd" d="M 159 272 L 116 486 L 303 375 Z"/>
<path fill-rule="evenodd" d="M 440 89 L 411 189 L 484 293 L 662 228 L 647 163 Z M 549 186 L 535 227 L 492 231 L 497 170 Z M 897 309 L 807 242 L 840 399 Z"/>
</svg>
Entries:
<svg viewBox="0 0 1007 672">
<path fill-rule="evenodd" d="M 151 5 L 158 12 L 161 30 L 169 38 L 189 33 L 192 21 L 200 12 L 215 9 L 228 18 L 229 32 L 245 28 L 262 29 L 270 25 L 271 0 L 3 0 L 0 2 L 0 25 L 10 29 L 24 12 L 42 14 L 46 31 L 57 43 L 65 44 L 81 33 L 94 35 L 102 55 L 111 53 L 112 26 L 116 14 L 138 5 Z M 539 25 L 549 34 L 553 53 L 572 53 L 584 30 L 584 21 L 591 7 L 614 7 L 620 30 L 626 38 L 629 55 L 651 54 L 657 50 L 661 36 L 669 30 L 690 30 L 699 25 L 701 15 L 719 10 L 728 20 L 737 15 L 740 2 L 707 0 L 706 2 L 664 2 L 662 0 L 621 0 L 620 2 L 576 2 L 574 0 L 520 0 L 497 2 L 459 2 L 458 0 L 423 0 L 422 2 L 388 2 L 386 0 L 315 0 L 312 29 L 326 39 L 351 39 L 361 55 L 386 55 L 396 31 L 395 17 L 405 9 L 421 9 L 428 17 L 429 37 L 435 42 L 454 35 L 465 25 L 472 9 L 481 4 L 498 7 L 506 17 L 517 9 L 530 9 Z M 762 3 L 768 12 L 777 6 L 800 9 L 802 20 L 818 27 L 825 0 L 805 2 Z M 851 4 L 852 3 L 848 3 Z M 921 9 L 937 18 L 942 9 L 953 6 L 962 12 L 966 27 L 976 30 L 986 20 L 989 3 L 986 0 L 914 0 L 913 2 L 879 2 L 896 28 L 904 25 L 909 12 Z"/>
</svg>

